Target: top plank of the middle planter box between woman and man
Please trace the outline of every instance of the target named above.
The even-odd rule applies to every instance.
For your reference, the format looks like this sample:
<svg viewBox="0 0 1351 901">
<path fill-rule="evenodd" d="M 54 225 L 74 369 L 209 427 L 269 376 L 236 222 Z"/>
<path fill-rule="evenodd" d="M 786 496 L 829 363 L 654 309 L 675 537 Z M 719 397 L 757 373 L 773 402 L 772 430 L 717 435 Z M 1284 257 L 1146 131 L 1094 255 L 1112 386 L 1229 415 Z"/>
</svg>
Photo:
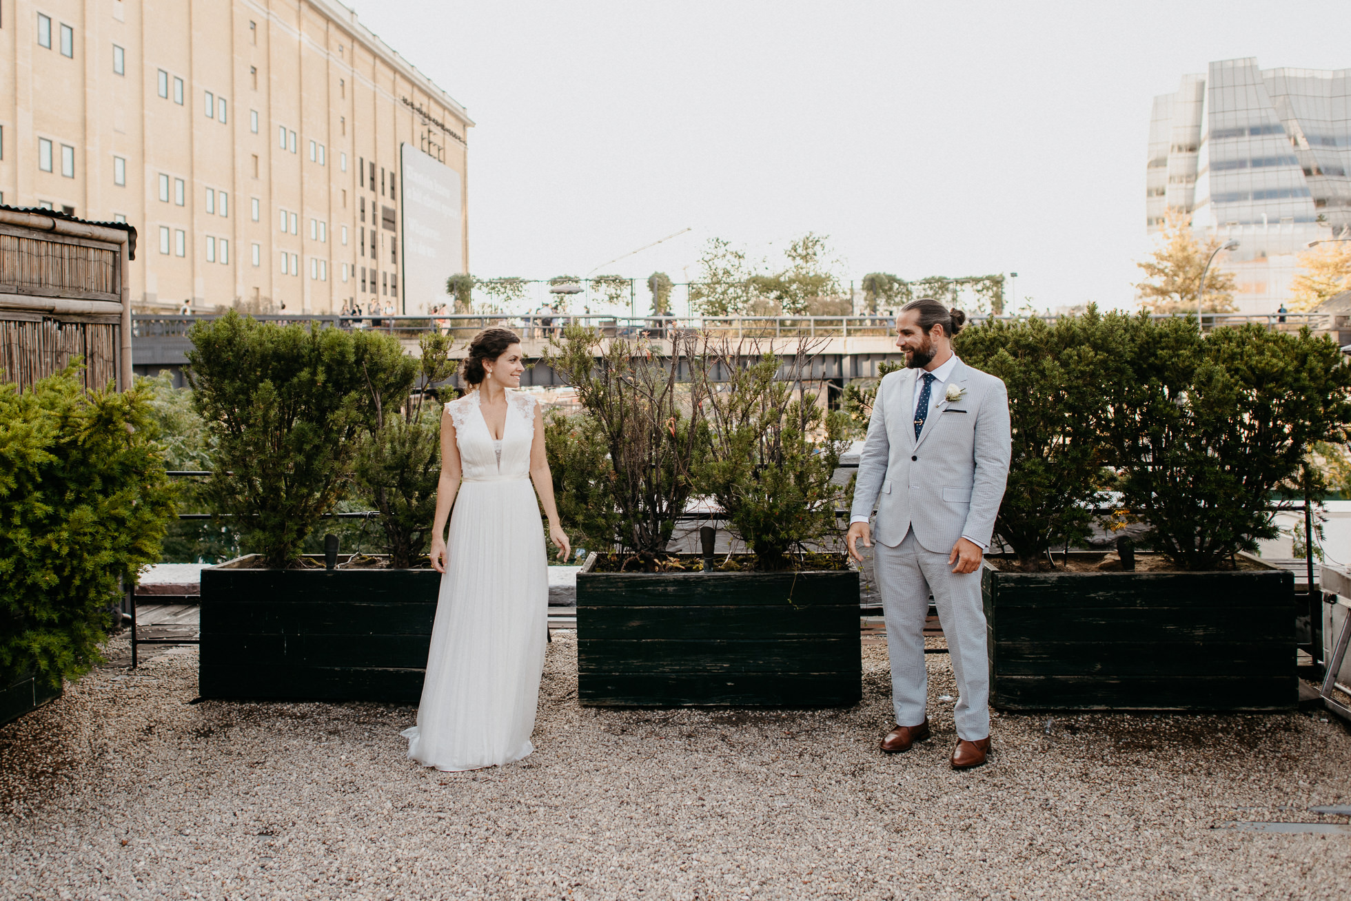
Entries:
<svg viewBox="0 0 1351 901">
<path fill-rule="evenodd" d="M 577 607 L 851 605 L 858 573 L 578 573 Z"/>
</svg>

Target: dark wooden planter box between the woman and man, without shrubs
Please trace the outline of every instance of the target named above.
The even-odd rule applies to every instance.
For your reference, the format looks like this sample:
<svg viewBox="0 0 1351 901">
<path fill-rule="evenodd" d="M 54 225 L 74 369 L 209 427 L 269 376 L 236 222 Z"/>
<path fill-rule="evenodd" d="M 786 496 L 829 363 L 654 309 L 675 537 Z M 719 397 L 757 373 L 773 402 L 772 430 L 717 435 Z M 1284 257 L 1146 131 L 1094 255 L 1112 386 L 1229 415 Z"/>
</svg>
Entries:
<svg viewBox="0 0 1351 901">
<path fill-rule="evenodd" d="M 578 573 L 593 706 L 851 706 L 858 573 Z"/>
</svg>

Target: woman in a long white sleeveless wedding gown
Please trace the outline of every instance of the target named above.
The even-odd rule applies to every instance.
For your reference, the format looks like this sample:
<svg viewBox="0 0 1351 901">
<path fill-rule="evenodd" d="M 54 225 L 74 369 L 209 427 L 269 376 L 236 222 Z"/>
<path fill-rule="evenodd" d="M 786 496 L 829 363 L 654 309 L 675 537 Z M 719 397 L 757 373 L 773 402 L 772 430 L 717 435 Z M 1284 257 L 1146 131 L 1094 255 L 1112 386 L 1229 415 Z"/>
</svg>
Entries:
<svg viewBox="0 0 1351 901">
<path fill-rule="evenodd" d="M 562 559 L 570 547 L 554 505 L 543 409 L 508 390 L 520 386 L 524 369 L 515 332 L 478 332 L 462 371 L 476 390 L 440 416 L 431 562 L 444 575 L 417 725 L 403 732 L 408 756 L 438 770 L 511 763 L 535 750 L 530 735 L 549 634 L 540 505 Z"/>
</svg>

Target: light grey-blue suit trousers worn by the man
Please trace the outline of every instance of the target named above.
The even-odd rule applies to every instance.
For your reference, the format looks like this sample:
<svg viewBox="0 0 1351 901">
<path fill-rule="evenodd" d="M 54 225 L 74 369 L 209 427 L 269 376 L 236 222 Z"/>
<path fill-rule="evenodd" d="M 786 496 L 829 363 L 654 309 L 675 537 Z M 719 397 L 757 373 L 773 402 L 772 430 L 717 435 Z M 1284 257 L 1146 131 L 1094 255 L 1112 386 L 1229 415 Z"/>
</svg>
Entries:
<svg viewBox="0 0 1351 901">
<path fill-rule="evenodd" d="M 886 651 L 892 661 L 892 704 L 898 725 L 919 725 L 928 706 L 924 669 L 924 617 L 934 594 L 957 677 L 952 716 L 957 736 L 974 742 L 990 733 L 990 661 L 985 650 L 985 605 L 981 570 L 957 574 L 951 551 L 925 550 L 911 530 L 896 547 L 873 543 L 877 588 L 886 619 Z"/>
</svg>

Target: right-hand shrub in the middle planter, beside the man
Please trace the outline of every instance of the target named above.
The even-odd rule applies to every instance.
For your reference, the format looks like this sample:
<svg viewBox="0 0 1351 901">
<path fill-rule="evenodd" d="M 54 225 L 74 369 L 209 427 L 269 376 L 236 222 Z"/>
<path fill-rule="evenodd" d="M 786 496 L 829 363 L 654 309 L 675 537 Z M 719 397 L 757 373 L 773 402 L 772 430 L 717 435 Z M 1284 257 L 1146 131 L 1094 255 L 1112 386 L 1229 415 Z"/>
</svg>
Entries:
<svg viewBox="0 0 1351 901">
<path fill-rule="evenodd" d="M 848 444 L 848 416 L 794 396 L 811 371 L 805 344 L 781 359 L 754 340 L 724 342 L 690 365 L 708 416 L 696 486 L 723 508 L 757 566 L 786 569 L 790 551 L 838 536 L 844 488 L 831 478 Z"/>
</svg>

